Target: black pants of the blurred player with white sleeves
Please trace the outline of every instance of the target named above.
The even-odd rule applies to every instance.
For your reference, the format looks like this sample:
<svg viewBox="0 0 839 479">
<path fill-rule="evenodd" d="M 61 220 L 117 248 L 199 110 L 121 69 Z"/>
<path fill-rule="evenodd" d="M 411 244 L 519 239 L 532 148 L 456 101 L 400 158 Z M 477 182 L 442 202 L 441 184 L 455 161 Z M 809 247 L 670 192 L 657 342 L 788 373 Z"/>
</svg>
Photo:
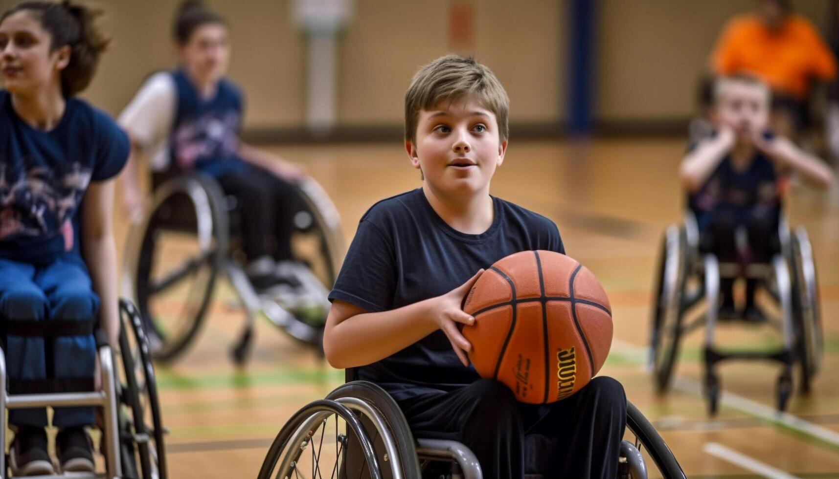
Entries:
<svg viewBox="0 0 839 479">
<path fill-rule="evenodd" d="M 293 185 L 273 173 L 248 164 L 244 172 L 222 174 L 221 189 L 237 199 L 234 214 L 241 217 L 242 250 L 248 260 L 272 255 L 277 261 L 292 258 L 294 215 L 303 200 Z"/>
</svg>

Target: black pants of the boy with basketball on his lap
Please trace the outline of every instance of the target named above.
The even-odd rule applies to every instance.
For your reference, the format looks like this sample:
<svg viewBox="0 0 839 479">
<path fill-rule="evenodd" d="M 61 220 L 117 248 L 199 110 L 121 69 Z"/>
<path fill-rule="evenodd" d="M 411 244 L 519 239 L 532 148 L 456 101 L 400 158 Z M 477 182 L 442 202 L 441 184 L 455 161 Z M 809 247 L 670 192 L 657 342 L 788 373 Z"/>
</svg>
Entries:
<svg viewBox="0 0 839 479">
<path fill-rule="evenodd" d="M 595 377 L 571 398 L 547 405 L 521 404 L 503 384 L 482 379 L 399 406 L 414 437 L 465 444 L 486 479 L 618 475 L 626 395 L 611 377 Z"/>
</svg>

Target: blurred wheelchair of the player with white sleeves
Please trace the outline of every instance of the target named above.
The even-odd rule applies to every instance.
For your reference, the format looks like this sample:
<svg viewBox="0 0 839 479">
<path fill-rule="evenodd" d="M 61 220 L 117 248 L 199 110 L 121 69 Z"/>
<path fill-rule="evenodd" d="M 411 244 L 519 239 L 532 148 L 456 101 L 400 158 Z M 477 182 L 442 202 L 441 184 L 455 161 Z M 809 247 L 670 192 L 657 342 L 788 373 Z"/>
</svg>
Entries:
<svg viewBox="0 0 839 479">
<path fill-rule="evenodd" d="M 242 365 L 260 313 L 294 340 L 320 350 L 327 295 L 344 251 L 340 217 L 315 180 L 298 186 L 304 207 L 294 215 L 292 247 L 306 265 L 301 282 L 308 298 L 258 294 L 243 268 L 240 212 L 246 205 L 225 195 L 206 174 L 175 171 L 152 175 L 153 197 L 143 221 L 133 226 L 123 271 L 125 294 L 136 300 L 156 360 L 174 360 L 195 339 L 211 304 L 216 280 L 229 280 L 245 311 L 232 347 Z"/>
</svg>

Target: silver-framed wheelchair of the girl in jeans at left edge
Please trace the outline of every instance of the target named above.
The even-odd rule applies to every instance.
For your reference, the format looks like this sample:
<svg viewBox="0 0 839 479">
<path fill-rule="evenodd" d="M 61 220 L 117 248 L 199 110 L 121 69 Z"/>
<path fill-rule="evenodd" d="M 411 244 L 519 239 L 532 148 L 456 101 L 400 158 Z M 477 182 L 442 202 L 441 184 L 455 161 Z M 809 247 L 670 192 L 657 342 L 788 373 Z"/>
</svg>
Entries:
<svg viewBox="0 0 839 479">
<path fill-rule="evenodd" d="M 6 385 L 0 392 L 0 444 L 6 442 L 8 423 L 6 409 L 93 406 L 102 415 L 99 451 L 105 458 L 105 471 L 80 472 L 50 477 L 90 477 L 165 479 L 166 455 L 160 406 L 154 381 L 154 367 L 143 322 L 138 311 L 127 300 L 121 300 L 120 331 L 117 351 L 108 346 L 104 331 L 95 320 L 89 321 L 4 321 L 5 335 L 78 336 L 94 334 L 102 374 L 102 390 L 96 391 L 93 378 L 39 379 L 8 382 L 5 355 L 0 355 L 0 381 Z M 0 477 L 12 476 L 8 455 L 0 455 Z"/>
</svg>

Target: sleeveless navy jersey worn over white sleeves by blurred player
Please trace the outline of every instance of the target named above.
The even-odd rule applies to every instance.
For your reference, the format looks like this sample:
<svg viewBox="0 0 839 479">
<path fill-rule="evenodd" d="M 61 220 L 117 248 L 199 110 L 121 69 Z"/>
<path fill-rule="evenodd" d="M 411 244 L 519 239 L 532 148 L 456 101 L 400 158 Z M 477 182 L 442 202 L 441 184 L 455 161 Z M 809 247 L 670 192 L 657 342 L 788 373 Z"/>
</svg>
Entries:
<svg viewBox="0 0 839 479">
<path fill-rule="evenodd" d="M 173 70 L 178 106 L 169 144 L 180 171 L 198 169 L 212 176 L 241 173 L 238 156 L 242 95 L 230 81 L 219 82 L 211 98 L 201 98 L 183 70 Z"/>
</svg>

